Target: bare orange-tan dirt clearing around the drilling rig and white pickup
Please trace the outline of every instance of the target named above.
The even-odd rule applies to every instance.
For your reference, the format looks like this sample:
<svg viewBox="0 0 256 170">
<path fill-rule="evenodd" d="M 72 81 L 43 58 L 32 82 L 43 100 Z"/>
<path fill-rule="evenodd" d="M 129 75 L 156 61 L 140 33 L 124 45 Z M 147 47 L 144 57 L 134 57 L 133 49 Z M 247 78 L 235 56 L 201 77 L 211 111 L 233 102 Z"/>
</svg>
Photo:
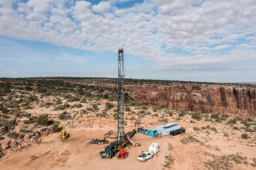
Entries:
<svg viewBox="0 0 256 170">
<path fill-rule="evenodd" d="M 175 164 L 171 169 L 206 169 L 203 162 L 206 161 L 204 151 L 214 149 L 206 148 L 198 143 L 188 145 L 182 144 L 180 139 L 192 134 L 178 135 L 175 137 L 164 136 L 159 138 L 150 138 L 140 134 L 135 134 L 133 140 L 137 145 L 129 146 L 127 151 L 128 157 L 124 160 L 116 158 L 102 159 L 99 152 L 106 145 L 89 144 L 91 138 L 102 138 L 106 130 L 93 130 L 88 128 L 68 129 L 71 138 L 67 141 L 61 141 L 59 134 L 50 134 L 43 138 L 42 143 L 24 151 L 17 152 L 13 155 L 6 155 L 0 161 L 1 169 L 163 169 L 165 155 L 168 155 L 168 144 L 171 143 L 173 150 L 172 156 L 175 158 Z M 147 151 L 152 142 L 160 144 L 160 152 L 154 155 L 154 158 L 147 162 L 138 162 L 137 156 L 141 151 Z M 220 149 L 227 147 L 226 143 L 219 145 Z M 248 155 L 255 156 L 255 148 L 251 149 L 241 145 L 241 150 L 248 151 Z M 239 146 L 236 147 L 238 149 Z M 238 149 L 239 150 L 239 149 Z M 226 151 L 224 151 L 226 152 Z M 234 169 L 255 169 L 251 166 L 235 165 Z"/>
</svg>

